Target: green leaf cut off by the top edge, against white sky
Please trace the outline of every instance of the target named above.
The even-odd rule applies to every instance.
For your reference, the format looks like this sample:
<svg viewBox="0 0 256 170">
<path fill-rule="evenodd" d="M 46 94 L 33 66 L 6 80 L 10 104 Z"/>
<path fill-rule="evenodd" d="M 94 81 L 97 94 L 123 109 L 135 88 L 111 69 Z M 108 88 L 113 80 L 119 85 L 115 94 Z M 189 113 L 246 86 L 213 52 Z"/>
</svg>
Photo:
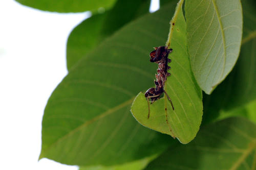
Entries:
<svg viewBox="0 0 256 170">
<path fill-rule="evenodd" d="M 116 0 L 15 0 L 22 5 L 37 8 L 39 10 L 50 12 L 84 12 L 84 11 L 97 11 L 99 8 L 109 9 Z"/>
</svg>

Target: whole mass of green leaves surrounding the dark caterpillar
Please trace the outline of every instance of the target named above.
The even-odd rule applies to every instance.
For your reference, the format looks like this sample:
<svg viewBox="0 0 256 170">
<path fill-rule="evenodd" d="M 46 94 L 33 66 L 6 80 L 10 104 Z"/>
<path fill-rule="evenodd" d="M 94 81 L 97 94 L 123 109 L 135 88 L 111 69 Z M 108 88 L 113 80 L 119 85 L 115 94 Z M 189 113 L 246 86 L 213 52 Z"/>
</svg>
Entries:
<svg viewBox="0 0 256 170">
<path fill-rule="evenodd" d="M 162 0 L 152 14 L 146 0 L 17 1 L 93 12 L 69 36 L 69 74 L 45 108 L 40 158 L 81 169 L 256 168 L 254 0 Z M 164 94 L 147 118 L 142 92 L 157 68 L 148 54 L 164 44 L 175 109 Z"/>
</svg>

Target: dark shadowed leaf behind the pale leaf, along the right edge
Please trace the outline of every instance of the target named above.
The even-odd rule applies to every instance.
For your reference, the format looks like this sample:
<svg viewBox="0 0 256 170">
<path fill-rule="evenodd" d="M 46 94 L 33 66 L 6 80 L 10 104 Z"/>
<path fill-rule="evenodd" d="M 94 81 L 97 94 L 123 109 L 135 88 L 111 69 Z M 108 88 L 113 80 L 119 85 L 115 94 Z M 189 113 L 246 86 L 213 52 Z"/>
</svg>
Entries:
<svg viewBox="0 0 256 170">
<path fill-rule="evenodd" d="M 243 40 L 240 57 L 225 81 L 211 95 L 203 96 L 204 122 L 256 99 L 256 2 L 242 1 Z"/>
</svg>

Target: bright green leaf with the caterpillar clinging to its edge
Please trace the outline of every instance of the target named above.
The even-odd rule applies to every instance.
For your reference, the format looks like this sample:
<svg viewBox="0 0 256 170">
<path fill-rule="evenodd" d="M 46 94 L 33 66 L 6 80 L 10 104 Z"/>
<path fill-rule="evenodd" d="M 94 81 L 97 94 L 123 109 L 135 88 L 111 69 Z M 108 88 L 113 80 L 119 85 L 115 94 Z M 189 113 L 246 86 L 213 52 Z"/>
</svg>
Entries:
<svg viewBox="0 0 256 170">
<path fill-rule="evenodd" d="M 144 94 L 139 93 L 132 105 L 132 113 L 145 127 L 177 137 L 180 142 L 193 140 L 202 120 L 202 93 L 191 71 L 186 50 L 186 23 L 182 14 L 182 1 L 176 8 L 171 21 L 169 40 L 173 53 L 169 55 L 171 76 L 165 83 L 165 91 L 173 101 L 175 110 L 165 98 L 150 105 L 150 118 Z M 169 14 L 171 15 L 171 14 Z M 148 65 L 152 65 L 149 61 Z M 155 65 L 157 68 L 157 65 Z M 156 72 L 156 71 L 155 71 Z M 153 82 L 153 80 L 152 80 Z M 165 111 L 165 108 L 167 110 Z"/>
</svg>

